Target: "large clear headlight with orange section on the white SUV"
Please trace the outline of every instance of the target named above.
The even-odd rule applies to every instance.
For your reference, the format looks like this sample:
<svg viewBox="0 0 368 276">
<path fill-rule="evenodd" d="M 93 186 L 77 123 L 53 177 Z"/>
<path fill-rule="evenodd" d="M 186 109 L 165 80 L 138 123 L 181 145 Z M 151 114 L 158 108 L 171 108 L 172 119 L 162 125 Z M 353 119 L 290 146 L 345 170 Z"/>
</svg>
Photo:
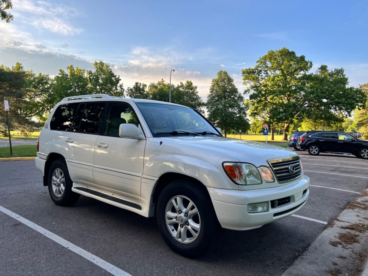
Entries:
<svg viewBox="0 0 368 276">
<path fill-rule="evenodd" d="M 227 175 L 238 185 L 262 184 L 257 168 L 247 163 L 224 163 Z"/>
</svg>

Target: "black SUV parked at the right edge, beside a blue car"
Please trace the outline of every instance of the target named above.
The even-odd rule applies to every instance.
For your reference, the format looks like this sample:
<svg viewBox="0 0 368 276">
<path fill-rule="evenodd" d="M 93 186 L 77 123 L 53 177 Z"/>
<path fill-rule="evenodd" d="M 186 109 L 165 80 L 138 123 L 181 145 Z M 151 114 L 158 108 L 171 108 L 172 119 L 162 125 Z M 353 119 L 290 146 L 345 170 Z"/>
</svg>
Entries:
<svg viewBox="0 0 368 276">
<path fill-rule="evenodd" d="M 299 138 L 297 148 L 307 149 L 311 155 L 329 152 L 368 159 L 368 141 L 358 140 L 340 131 L 307 131 Z"/>
</svg>

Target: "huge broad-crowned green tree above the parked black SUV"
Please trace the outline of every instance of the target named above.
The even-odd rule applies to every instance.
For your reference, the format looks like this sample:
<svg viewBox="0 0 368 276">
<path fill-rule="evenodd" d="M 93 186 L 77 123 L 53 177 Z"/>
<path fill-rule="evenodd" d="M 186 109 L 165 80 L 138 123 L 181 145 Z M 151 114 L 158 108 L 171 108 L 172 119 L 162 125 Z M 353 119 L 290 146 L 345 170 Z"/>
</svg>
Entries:
<svg viewBox="0 0 368 276">
<path fill-rule="evenodd" d="M 309 73 L 312 62 L 305 56 L 282 48 L 270 50 L 254 68 L 242 70 L 245 94 L 250 94 L 251 116 L 267 110 L 269 120 L 284 124 L 284 140 L 290 125 L 305 119 L 342 122 L 356 106 L 365 101 L 359 88 L 347 87 L 342 68 L 328 70 L 322 65 Z"/>
</svg>

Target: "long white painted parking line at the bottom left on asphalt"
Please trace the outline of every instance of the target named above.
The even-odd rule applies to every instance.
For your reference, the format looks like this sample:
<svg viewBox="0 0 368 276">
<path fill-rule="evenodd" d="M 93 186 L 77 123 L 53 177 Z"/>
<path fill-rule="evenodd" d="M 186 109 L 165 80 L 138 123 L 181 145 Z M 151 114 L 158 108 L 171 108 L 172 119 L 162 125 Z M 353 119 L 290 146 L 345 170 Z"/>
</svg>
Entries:
<svg viewBox="0 0 368 276">
<path fill-rule="evenodd" d="M 78 255 L 82 256 L 83 258 L 87 259 L 88 261 L 93 262 L 95 265 L 98 265 L 100 268 L 105 269 L 107 272 L 110 272 L 113 275 L 119 275 L 119 276 L 131 276 L 129 273 L 121 270 L 120 268 L 117 268 L 116 266 L 112 265 L 111 263 L 108 263 L 104 261 L 103 259 L 100 259 L 98 256 L 95 256 L 84 249 L 78 247 L 77 245 L 74 245 L 70 243 L 67 240 L 64 240 L 62 237 L 57 236 L 56 234 L 46 230 L 45 228 L 29 221 L 28 219 L 25 219 L 24 217 L 17 215 L 16 213 L 11 212 L 10 210 L 4 208 L 3 206 L 0 206 L 0 211 L 7 214 L 8 216 L 13 217 L 14 219 L 18 220 L 19 222 L 25 224 L 28 227 L 31 227 L 33 230 L 36 230 L 37 232 L 41 233 L 42 235 L 50 238 L 53 241 L 56 241 L 58 244 L 62 245 L 63 247 L 77 253 Z"/>
</svg>

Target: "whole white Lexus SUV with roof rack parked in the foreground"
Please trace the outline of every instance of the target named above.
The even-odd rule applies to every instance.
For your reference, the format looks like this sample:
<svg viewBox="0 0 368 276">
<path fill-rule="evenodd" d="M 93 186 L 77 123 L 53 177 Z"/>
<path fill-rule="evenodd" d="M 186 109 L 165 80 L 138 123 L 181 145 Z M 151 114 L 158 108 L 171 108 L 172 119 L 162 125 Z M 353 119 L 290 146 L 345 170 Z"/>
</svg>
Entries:
<svg viewBox="0 0 368 276">
<path fill-rule="evenodd" d="M 224 138 L 191 108 L 105 94 L 64 98 L 40 133 L 36 167 L 58 205 L 80 195 L 156 216 L 169 247 L 195 257 L 222 229 L 290 216 L 309 195 L 288 149 Z"/>
</svg>

